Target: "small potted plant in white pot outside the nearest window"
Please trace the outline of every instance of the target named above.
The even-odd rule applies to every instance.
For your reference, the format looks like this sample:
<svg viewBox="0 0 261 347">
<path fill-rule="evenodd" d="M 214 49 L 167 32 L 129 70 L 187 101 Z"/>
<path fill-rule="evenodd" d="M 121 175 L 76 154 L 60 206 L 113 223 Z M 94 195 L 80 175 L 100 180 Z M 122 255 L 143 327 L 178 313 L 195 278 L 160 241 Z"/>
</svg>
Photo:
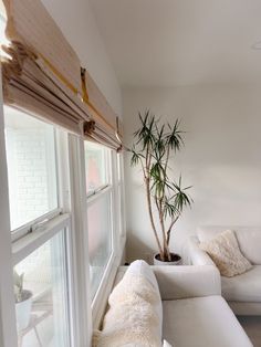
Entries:
<svg viewBox="0 0 261 347">
<path fill-rule="evenodd" d="M 18 332 L 25 329 L 30 322 L 30 314 L 32 308 L 32 292 L 23 288 L 24 273 L 19 275 L 13 271 L 13 285 L 15 298 L 15 313 Z"/>
</svg>

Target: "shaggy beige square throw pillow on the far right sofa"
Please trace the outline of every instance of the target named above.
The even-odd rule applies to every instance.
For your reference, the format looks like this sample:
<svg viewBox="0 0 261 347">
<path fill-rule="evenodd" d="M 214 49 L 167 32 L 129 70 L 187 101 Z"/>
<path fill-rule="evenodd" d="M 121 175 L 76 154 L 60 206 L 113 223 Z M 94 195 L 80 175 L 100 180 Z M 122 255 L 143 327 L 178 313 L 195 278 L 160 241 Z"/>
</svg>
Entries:
<svg viewBox="0 0 261 347">
<path fill-rule="evenodd" d="M 231 230 L 223 231 L 213 239 L 201 242 L 199 246 L 210 255 L 222 276 L 240 275 L 252 267 L 241 253 L 238 240 Z"/>
</svg>

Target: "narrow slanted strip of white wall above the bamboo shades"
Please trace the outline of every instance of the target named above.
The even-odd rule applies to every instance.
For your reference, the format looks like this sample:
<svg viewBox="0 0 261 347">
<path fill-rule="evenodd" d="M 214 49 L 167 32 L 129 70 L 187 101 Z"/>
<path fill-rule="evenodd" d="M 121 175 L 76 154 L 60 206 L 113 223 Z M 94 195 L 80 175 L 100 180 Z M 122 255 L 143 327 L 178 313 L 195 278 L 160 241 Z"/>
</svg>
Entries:
<svg viewBox="0 0 261 347">
<path fill-rule="evenodd" d="M 42 0 L 114 111 L 122 116 L 122 95 L 88 0 Z"/>
</svg>

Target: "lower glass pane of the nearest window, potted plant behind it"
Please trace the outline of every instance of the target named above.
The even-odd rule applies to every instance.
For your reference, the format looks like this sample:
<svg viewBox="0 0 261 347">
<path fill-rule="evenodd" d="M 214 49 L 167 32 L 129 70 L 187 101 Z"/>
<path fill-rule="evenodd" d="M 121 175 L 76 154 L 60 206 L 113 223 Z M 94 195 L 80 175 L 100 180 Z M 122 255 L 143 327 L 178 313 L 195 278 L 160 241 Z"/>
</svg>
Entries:
<svg viewBox="0 0 261 347">
<path fill-rule="evenodd" d="M 21 261 L 14 271 L 19 347 L 70 346 L 64 231 Z M 22 274 L 21 288 L 18 275 Z"/>
</svg>

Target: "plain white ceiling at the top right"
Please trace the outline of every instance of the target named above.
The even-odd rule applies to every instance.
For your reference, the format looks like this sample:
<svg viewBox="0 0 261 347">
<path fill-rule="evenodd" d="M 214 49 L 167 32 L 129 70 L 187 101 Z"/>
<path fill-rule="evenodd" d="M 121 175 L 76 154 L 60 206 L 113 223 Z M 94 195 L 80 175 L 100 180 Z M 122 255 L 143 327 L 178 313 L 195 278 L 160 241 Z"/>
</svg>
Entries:
<svg viewBox="0 0 261 347">
<path fill-rule="evenodd" d="M 261 82 L 261 0 L 91 0 L 123 86 Z"/>
</svg>

